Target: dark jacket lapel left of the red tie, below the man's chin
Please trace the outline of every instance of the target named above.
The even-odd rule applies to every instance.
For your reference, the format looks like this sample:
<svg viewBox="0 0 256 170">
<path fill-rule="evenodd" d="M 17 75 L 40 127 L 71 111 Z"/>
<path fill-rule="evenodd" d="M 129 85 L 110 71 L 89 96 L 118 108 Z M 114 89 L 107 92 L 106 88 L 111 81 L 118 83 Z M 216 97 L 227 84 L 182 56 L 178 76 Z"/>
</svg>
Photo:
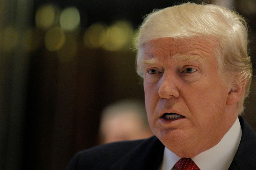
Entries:
<svg viewBox="0 0 256 170">
<path fill-rule="evenodd" d="M 136 146 L 123 158 L 117 160 L 110 169 L 157 170 L 162 162 L 163 154 L 164 145 L 153 136 Z"/>
</svg>

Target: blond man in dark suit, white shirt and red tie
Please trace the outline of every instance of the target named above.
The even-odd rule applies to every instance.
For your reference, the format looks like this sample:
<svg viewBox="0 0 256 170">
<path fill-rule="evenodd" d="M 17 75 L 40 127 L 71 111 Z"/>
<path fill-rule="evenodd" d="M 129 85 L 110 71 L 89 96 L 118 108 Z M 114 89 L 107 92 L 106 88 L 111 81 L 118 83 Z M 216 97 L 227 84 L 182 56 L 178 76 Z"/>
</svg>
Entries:
<svg viewBox="0 0 256 170">
<path fill-rule="evenodd" d="M 68 169 L 256 169 L 256 134 L 241 116 L 252 79 L 247 34 L 242 16 L 217 5 L 148 14 L 137 72 L 155 136 L 79 152 Z"/>
</svg>

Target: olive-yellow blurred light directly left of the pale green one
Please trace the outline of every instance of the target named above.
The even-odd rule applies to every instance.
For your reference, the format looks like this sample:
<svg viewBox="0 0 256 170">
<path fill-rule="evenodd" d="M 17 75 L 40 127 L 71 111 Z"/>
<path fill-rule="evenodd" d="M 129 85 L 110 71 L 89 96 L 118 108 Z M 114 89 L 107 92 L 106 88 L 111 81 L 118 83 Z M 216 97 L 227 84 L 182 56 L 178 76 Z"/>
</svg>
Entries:
<svg viewBox="0 0 256 170">
<path fill-rule="evenodd" d="M 53 25 L 55 17 L 55 9 L 52 4 L 46 4 L 39 7 L 36 11 L 35 21 L 36 26 L 46 29 Z"/>
</svg>

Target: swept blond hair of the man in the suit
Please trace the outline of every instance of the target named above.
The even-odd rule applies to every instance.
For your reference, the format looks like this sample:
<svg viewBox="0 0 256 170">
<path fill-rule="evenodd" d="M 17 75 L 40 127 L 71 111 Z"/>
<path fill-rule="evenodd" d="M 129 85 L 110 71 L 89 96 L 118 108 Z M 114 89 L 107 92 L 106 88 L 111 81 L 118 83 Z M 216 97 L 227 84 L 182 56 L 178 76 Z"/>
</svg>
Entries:
<svg viewBox="0 0 256 170">
<path fill-rule="evenodd" d="M 170 37 L 214 42 L 220 77 L 232 87 L 245 84 L 244 94 L 237 104 L 241 114 L 252 80 L 247 30 L 242 16 L 218 5 L 184 3 L 154 10 L 144 18 L 139 28 L 137 73 L 143 78 L 143 48 L 148 41 Z"/>
</svg>

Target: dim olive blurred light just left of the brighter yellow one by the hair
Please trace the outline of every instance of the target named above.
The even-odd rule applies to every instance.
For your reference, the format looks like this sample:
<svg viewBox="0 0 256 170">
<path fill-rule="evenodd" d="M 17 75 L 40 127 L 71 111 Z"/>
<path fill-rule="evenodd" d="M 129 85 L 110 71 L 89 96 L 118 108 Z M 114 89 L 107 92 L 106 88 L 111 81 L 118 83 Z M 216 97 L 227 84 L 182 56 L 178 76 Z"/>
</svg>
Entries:
<svg viewBox="0 0 256 170">
<path fill-rule="evenodd" d="M 106 41 L 107 26 L 102 23 L 92 24 L 84 33 L 84 44 L 90 48 L 98 48 Z"/>
</svg>

